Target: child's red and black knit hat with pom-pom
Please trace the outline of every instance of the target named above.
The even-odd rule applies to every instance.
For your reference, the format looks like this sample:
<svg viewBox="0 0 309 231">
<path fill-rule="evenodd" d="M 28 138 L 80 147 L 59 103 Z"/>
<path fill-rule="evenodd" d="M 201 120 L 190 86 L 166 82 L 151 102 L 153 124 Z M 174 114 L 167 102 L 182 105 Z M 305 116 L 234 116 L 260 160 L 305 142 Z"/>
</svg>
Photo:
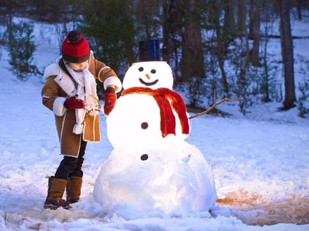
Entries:
<svg viewBox="0 0 309 231">
<path fill-rule="evenodd" d="M 83 63 L 90 58 L 87 40 L 76 30 L 67 34 L 61 46 L 62 58 L 69 63 Z"/>
</svg>

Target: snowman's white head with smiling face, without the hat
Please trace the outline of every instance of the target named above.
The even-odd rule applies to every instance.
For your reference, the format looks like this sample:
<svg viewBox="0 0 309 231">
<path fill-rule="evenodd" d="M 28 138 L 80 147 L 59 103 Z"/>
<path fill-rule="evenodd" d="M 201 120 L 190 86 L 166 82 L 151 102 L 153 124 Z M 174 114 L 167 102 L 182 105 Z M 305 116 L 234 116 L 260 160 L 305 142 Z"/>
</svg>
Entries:
<svg viewBox="0 0 309 231">
<path fill-rule="evenodd" d="M 172 69 L 164 61 L 133 63 L 126 72 L 122 84 L 124 89 L 130 87 L 149 87 L 151 89 L 165 87 L 172 89 L 172 85 Z"/>
</svg>

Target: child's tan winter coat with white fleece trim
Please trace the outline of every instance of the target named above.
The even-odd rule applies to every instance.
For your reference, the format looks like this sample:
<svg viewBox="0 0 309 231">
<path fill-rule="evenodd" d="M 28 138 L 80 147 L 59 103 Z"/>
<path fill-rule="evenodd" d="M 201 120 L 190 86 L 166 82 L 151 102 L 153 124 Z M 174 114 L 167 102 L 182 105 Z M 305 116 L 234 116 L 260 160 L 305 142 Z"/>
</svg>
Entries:
<svg viewBox="0 0 309 231">
<path fill-rule="evenodd" d="M 104 83 L 104 89 L 108 85 L 115 85 L 116 92 L 121 90 L 121 82 L 113 69 L 97 61 L 92 53 L 89 72 Z M 42 89 L 42 101 L 45 107 L 55 114 L 61 154 L 78 157 L 80 139 L 89 142 L 100 142 L 98 115 L 92 116 L 86 113 L 84 133 L 81 135 L 73 133 L 73 126 L 76 124 L 75 109 L 66 109 L 64 107 L 65 100 L 76 95 L 76 87 L 71 77 L 60 69 L 58 63 L 54 63 L 45 69 L 43 78 L 46 83 Z"/>
</svg>

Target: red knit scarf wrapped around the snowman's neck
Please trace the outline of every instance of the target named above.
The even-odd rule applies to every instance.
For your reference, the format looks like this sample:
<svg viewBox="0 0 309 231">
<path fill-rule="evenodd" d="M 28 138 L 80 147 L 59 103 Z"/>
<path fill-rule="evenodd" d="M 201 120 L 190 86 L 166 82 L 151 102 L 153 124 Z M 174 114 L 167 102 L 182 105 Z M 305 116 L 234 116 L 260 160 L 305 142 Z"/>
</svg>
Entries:
<svg viewBox="0 0 309 231">
<path fill-rule="evenodd" d="M 189 134 L 189 122 L 185 112 L 185 102 L 183 102 L 183 98 L 176 91 L 168 88 L 154 90 L 149 87 L 131 87 L 122 91 L 122 96 L 126 96 L 127 94 L 144 94 L 152 96 L 156 100 L 160 109 L 162 137 L 168 134 L 176 135 L 176 121 L 172 108 L 179 117 L 182 133 Z"/>
</svg>

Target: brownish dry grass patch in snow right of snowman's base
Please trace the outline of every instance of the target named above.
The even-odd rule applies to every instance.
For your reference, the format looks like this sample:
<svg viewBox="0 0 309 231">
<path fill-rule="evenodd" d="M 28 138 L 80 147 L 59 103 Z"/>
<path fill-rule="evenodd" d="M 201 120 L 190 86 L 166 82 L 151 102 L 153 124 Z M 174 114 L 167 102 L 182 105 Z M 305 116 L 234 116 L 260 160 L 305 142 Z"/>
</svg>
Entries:
<svg viewBox="0 0 309 231">
<path fill-rule="evenodd" d="M 265 201 L 257 194 L 244 190 L 229 192 L 218 199 L 219 206 L 229 207 L 232 214 L 247 225 L 274 225 L 277 223 L 309 223 L 309 199 L 289 197 L 282 201 Z"/>
</svg>

